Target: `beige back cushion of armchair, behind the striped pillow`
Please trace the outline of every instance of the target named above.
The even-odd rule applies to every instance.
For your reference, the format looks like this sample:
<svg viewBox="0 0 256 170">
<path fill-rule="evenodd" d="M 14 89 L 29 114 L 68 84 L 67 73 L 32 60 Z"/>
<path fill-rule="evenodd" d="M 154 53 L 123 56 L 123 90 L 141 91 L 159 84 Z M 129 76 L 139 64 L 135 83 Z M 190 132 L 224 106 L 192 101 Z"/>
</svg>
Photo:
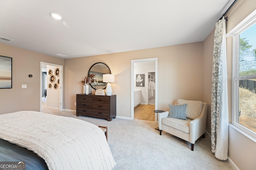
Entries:
<svg viewBox="0 0 256 170">
<path fill-rule="evenodd" d="M 176 104 L 181 105 L 181 104 L 187 104 L 186 107 L 186 117 L 188 119 L 196 119 L 202 111 L 203 107 L 203 102 L 201 101 L 195 101 L 195 100 L 183 100 L 183 99 L 178 99 Z"/>
</svg>

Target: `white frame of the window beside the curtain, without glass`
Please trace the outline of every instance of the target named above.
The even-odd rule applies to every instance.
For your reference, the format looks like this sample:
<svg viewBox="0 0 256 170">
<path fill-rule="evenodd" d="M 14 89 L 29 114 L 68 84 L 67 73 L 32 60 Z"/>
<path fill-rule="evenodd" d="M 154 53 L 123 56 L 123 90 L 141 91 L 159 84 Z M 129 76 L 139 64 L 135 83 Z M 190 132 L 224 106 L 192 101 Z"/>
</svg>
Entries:
<svg viewBox="0 0 256 170">
<path fill-rule="evenodd" d="M 234 27 L 227 37 L 232 37 L 232 125 L 238 131 L 256 141 L 256 132 L 237 123 L 239 119 L 239 80 L 256 79 L 256 75 L 239 76 L 239 35 L 256 23 L 256 10 Z"/>
</svg>

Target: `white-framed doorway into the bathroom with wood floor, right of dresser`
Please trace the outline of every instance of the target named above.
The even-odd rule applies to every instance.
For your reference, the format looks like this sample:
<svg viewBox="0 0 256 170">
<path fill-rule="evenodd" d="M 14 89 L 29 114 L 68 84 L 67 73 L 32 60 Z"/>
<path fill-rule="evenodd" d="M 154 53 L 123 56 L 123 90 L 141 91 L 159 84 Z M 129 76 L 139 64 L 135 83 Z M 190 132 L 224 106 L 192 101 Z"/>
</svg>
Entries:
<svg viewBox="0 0 256 170">
<path fill-rule="evenodd" d="M 157 58 L 132 60 L 131 66 L 131 119 L 155 121 L 154 110 L 157 109 Z M 153 93 L 149 93 L 149 90 L 152 92 L 149 88 L 151 88 L 151 77 L 153 76 Z"/>
</svg>

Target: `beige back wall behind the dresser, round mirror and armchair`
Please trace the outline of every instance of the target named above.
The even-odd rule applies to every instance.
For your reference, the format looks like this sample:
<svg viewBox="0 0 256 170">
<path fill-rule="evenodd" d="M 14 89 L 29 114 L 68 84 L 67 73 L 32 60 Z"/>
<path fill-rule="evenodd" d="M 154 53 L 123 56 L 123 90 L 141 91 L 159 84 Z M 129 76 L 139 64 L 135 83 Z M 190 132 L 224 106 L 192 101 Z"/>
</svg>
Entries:
<svg viewBox="0 0 256 170">
<path fill-rule="evenodd" d="M 83 92 L 80 80 L 92 64 L 106 63 L 115 82 L 117 116 L 131 117 L 131 60 L 158 58 L 158 109 L 168 110 L 168 104 L 178 98 L 203 100 L 202 42 L 174 45 L 107 55 L 64 60 L 64 108 L 75 110 L 76 94 Z"/>
</svg>

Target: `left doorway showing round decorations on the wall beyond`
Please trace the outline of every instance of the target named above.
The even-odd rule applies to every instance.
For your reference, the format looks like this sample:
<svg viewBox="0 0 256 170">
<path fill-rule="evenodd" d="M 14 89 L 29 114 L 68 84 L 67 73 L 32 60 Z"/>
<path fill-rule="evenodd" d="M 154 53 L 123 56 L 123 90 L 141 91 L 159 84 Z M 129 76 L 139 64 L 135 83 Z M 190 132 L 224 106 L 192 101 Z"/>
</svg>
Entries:
<svg viewBox="0 0 256 170">
<path fill-rule="evenodd" d="M 54 69 L 53 69 L 54 68 Z M 57 68 L 57 69 L 56 69 Z M 62 65 L 52 64 L 52 63 L 44 63 L 40 62 L 40 111 L 42 112 L 42 106 L 46 106 L 47 98 L 50 99 L 54 105 L 50 106 L 52 108 L 58 108 L 59 111 L 63 110 L 63 74 L 62 74 Z M 48 72 L 50 70 L 50 72 Z M 46 75 L 53 75 L 53 79 L 46 78 Z M 50 83 L 46 83 L 50 80 Z M 45 85 L 46 84 L 46 85 Z M 58 95 L 53 94 L 52 96 L 56 96 L 56 98 L 51 98 L 52 93 L 50 93 L 49 89 L 54 89 L 55 94 L 57 92 Z"/>
</svg>

